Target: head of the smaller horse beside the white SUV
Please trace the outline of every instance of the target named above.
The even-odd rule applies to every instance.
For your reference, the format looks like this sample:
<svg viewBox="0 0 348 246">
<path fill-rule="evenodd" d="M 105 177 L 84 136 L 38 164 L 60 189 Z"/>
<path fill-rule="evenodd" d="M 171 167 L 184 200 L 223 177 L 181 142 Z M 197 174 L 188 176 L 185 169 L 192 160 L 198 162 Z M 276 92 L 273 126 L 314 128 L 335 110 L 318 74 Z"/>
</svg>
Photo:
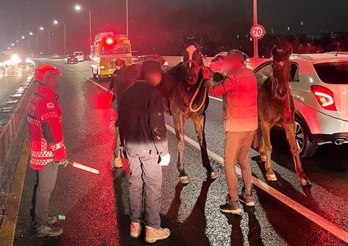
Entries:
<svg viewBox="0 0 348 246">
<path fill-rule="evenodd" d="M 292 54 L 292 48 L 290 47 L 286 51 L 283 49 L 277 49 L 274 47 L 271 50 L 273 56 L 272 69 L 273 77 L 275 79 L 273 91 L 276 97 L 283 98 L 289 92 L 289 79 L 290 79 L 290 55 Z"/>
</svg>

